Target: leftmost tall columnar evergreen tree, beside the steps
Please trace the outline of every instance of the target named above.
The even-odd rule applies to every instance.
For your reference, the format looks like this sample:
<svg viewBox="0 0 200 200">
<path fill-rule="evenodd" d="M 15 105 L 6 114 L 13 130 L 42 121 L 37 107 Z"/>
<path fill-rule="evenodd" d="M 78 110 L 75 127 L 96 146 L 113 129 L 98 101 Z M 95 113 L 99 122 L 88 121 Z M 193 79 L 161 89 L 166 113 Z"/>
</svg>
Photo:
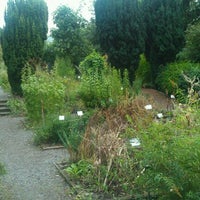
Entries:
<svg viewBox="0 0 200 200">
<path fill-rule="evenodd" d="M 12 92 L 22 95 L 23 67 L 42 56 L 48 31 L 48 8 L 44 0 L 8 0 L 4 18 L 3 59 Z"/>
</svg>

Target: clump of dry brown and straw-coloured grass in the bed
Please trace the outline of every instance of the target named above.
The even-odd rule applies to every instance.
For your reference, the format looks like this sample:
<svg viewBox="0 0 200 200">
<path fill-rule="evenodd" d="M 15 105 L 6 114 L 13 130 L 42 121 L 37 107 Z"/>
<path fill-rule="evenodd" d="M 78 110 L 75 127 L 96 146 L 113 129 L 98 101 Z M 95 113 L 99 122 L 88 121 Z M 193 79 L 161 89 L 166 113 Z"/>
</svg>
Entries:
<svg viewBox="0 0 200 200">
<path fill-rule="evenodd" d="M 122 139 L 126 128 L 134 124 L 139 129 L 153 120 L 151 112 L 144 106 L 149 101 L 140 96 L 124 100 L 116 107 L 97 112 L 89 121 L 84 138 L 79 147 L 81 159 L 90 159 L 95 165 L 110 165 L 111 159 L 126 152 L 125 140 Z M 129 120 L 127 120 L 129 116 Z"/>
</svg>

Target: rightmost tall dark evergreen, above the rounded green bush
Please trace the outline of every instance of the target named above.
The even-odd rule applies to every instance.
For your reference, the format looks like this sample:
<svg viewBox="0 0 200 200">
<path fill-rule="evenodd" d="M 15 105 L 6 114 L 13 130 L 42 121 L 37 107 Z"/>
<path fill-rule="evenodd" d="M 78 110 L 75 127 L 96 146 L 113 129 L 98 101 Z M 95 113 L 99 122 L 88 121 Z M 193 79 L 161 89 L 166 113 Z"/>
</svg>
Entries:
<svg viewBox="0 0 200 200">
<path fill-rule="evenodd" d="M 184 45 L 182 0 L 144 0 L 146 24 L 145 55 L 153 78 L 159 66 L 172 62 Z"/>
</svg>

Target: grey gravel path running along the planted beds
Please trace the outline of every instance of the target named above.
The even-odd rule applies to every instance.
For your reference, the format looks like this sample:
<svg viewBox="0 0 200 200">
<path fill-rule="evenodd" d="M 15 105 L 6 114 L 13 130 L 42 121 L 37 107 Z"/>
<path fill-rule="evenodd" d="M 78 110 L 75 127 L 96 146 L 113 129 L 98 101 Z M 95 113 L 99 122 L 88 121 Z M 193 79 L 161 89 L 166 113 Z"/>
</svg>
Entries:
<svg viewBox="0 0 200 200">
<path fill-rule="evenodd" d="M 5 94 L 0 89 L 0 98 Z M 4 96 L 5 97 L 5 96 Z M 68 158 L 64 149 L 42 151 L 20 117 L 0 117 L 0 162 L 5 165 L 0 200 L 64 200 L 68 186 L 54 162 Z"/>
</svg>

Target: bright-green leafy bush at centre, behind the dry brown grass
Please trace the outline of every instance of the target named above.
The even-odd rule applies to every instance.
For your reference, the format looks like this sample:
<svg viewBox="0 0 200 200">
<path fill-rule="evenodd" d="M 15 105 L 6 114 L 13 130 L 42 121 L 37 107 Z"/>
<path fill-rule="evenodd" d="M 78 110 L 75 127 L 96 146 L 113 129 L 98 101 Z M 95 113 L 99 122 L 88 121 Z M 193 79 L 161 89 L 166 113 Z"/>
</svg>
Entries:
<svg viewBox="0 0 200 200">
<path fill-rule="evenodd" d="M 87 107 L 108 107 L 121 100 L 127 91 L 127 71 L 124 80 L 116 69 L 110 67 L 103 57 L 93 53 L 81 63 L 80 98 Z"/>
</svg>

